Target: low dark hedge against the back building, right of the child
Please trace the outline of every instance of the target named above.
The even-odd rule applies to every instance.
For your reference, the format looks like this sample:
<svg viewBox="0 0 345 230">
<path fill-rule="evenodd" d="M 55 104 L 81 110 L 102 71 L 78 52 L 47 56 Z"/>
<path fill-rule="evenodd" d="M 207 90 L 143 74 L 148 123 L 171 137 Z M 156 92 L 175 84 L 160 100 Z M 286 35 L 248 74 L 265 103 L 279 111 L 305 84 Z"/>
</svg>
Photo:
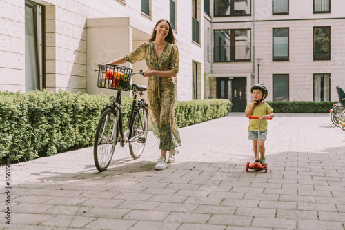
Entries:
<svg viewBox="0 0 345 230">
<path fill-rule="evenodd" d="M 329 113 L 336 102 L 267 102 L 275 113 Z"/>
</svg>

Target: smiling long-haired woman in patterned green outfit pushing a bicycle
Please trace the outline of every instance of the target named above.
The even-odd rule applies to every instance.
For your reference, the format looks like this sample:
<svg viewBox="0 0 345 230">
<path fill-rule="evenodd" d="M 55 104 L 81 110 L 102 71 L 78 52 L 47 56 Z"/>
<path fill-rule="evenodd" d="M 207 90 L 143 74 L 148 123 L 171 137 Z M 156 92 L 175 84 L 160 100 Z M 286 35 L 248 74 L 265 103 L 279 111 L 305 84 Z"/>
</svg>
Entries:
<svg viewBox="0 0 345 230">
<path fill-rule="evenodd" d="M 153 133 L 159 139 L 161 156 L 155 169 L 166 169 L 166 153 L 169 151 L 168 163 L 175 162 L 178 146 L 181 146 L 179 131 L 174 118 L 176 99 L 176 75 L 179 72 L 179 50 L 171 24 L 166 19 L 157 21 L 152 36 L 144 41 L 130 54 L 110 61 L 109 64 L 135 63 L 145 60 L 148 71 L 148 114 Z"/>
</svg>

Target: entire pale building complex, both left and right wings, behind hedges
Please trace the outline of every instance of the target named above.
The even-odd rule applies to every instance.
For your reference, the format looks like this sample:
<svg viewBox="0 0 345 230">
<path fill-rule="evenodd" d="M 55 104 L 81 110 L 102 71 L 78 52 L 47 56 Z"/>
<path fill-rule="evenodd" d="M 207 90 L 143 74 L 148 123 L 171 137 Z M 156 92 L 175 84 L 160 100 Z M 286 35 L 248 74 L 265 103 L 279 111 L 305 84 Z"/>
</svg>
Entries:
<svg viewBox="0 0 345 230">
<path fill-rule="evenodd" d="M 250 86 L 261 82 L 269 101 L 337 101 L 335 86 L 345 88 L 344 7 L 341 0 L 0 0 L 0 90 L 114 94 L 97 88 L 97 64 L 135 49 L 165 18 L 179 47 L 177 100 L 227 98 L 243 111 Z M 126 66 L 146 70 L 144 61 Z"/>
</svg>

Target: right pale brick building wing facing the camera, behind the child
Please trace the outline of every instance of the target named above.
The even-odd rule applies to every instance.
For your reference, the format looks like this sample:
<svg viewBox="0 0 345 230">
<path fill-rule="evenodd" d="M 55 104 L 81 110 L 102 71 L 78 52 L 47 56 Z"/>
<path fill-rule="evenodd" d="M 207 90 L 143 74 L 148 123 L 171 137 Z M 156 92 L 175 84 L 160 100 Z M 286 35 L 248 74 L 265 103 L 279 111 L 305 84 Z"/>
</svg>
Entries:
<svg viewBox="0 0 345 230">
<path fill-rule="evenodd" d="M 261 82 L 268 101 L 337 101 L 344 8 L 339 0 L 204 0 L 204 70 L 217 79 L 205 97 L 244 111 Z"/>
</svg>

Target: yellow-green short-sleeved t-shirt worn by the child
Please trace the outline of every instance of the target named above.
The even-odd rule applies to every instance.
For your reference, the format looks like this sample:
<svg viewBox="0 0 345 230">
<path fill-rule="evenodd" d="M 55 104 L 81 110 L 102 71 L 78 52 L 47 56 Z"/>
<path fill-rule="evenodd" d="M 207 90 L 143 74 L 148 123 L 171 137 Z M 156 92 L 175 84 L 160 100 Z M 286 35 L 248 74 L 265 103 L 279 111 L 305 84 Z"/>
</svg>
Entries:
<svg viewBox="0 0 345 230">
<path fill-rule="evenodd" d="M 248 104 L 245 111 L 248 111 L 250 106 L 252 106 L 252 103 Z M 250 115 L 253 117 L 262 117 L 263 115 L 268 115 L 269 113 L 272 113 L 272 112 L 273 112 L 273 108 L 270 107 L 269 104 L 264 102 L 264 103 L 260 104 L 259 106 L 254 106 L 253 112 Z M 259 130 L 259 119 L 249 119 L 248 130 L 258 131 Z M 262 120 L 260 131 L 266 131 L 266 130 L 267 130 L 267 120 Z"/>
</svg>

